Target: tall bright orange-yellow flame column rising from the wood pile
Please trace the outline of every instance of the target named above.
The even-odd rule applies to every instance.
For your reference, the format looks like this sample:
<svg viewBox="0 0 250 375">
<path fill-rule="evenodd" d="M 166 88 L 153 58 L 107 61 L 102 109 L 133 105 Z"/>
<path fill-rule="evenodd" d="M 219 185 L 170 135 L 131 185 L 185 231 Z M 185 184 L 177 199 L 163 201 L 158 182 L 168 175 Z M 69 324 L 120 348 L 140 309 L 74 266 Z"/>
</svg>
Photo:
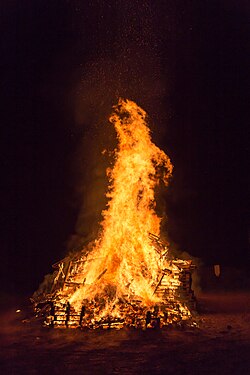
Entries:
<svg viewBox="0 0 250 375">
<path fill-rule="evenodd" d="M 160 179 L 168 183 L 173 166 L 152 142 L 146 112 L 136 103 L 120 99 L 110 122 L 117 132 L 118 147 L 114 167 L 107 171 L 109 202 L 103 211 L 103 231 L 76 275 L 82 286 L 70 303 L 79 307 L 84 299 L 106 296 L 108 305 L 108 300 L 134 296 L 150 306 L 157 302 L 154 289 L 162 269 L 149 236 L 160 233 L 155 187 Z"/>
</svg>

